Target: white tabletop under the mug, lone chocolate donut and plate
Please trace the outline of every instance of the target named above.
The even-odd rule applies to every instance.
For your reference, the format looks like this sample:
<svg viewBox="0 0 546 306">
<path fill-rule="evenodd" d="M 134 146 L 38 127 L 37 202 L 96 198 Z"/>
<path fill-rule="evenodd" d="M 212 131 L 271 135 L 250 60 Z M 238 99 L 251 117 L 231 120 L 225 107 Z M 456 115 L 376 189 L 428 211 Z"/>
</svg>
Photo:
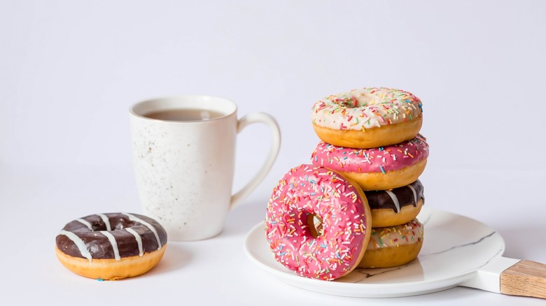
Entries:
<svg viewBox="0 0 546 306">
<path fill-rule="evenodd" d="M 446 197 L 464 184 L 485 180 L 506 184 L 498 171 L 450 172 L 426 170 L 426 206 L 463 213 L 495 228 L 505 239 L 505 256 L 546 263 L 543 218 L 544 200 L 535 193 L 516 196 L 471 187 L 468 195 Z M 470 174 L 470 175 L 469 175 Z M 512 173 L 521 181 L 544 182 L 545 173 Z M 435 182 L 438 181 L 438 182 Z M 465 182 L 461 184 L 461 182 Z M 542 184 L 542 183 L 540 183 Z M 225 231 L 209 240 L 169 242 L 157 267 L 141 277 L 114 282 L 86 279 L 66 270 L 55 257 L 55 235 L 68 221 L 96 212 L 139 212 L 130 168 L 3 167 L 0 175 L 3 214 L 2 294 L 0 300 L 36 305 L 43 300 L 61 305 L 95 305 L 97 298 L 109 303 L 211 305 L 478 305 L 521 303 L 543 305 L 544 300 L 504 296 L 456 287 L 447 291 L 407 298 L 366 299 L 328 296 L 285 284 L 253 265 L 244 254 L 246 233 L 265 217 L 269 194 L 260 188 L 228 217 Z M 516 184 L 514 187 L 520 189 Z M 469 197 L 471 199 L 469 199 Z M 486 208 L 486 204 L 489 207 Z M 493 205 L 494 204 L 494 205 Z M 512 205 L 520 207 L 515 211 Z M 483 206 L 483 207 L 482 207 Z M 528 210 L 528 212 L 521 212 Z M 446 263 L 449 264 L 449 263 Z"/>
</svg>

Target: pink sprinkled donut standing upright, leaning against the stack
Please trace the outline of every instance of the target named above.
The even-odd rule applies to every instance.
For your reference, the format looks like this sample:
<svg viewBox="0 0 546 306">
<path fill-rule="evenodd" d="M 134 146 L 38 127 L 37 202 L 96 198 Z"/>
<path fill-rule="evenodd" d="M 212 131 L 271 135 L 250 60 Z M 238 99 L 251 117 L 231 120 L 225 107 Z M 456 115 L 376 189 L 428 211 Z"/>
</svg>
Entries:
<svg viewBox="0 0 546 306">
<path fill-rule="evenodd" d="M 321 225 L 315 226 L 315 219 Z M 370 207 L 358 185 L 327 168 L 305 164 L 279 180 L 265 216 L 276 261 L 298 275 L 323 280 L 356 268 L 371 224 Z"/>
</svg>

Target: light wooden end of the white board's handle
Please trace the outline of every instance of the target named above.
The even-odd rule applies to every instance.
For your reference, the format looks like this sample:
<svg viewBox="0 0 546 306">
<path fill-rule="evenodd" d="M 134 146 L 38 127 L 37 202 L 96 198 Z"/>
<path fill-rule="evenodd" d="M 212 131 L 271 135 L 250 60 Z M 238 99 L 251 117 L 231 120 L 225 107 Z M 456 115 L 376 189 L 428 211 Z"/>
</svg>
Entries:
<svg viewBox="0 0 546 306">
<path fill-rule="evenodd" d="M 500 293 L 546 298 L 546 265 L 519 261 L 500 273 Z"/>
</svg>

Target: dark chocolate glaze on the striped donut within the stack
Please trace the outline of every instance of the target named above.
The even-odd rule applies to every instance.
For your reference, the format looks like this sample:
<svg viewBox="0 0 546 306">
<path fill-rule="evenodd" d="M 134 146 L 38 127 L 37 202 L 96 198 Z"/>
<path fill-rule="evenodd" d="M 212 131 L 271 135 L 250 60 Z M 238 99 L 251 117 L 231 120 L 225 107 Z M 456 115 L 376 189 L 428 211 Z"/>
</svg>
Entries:
<svg viewBox="0 0 546 306">
<path fill-rule="evenodd" d="M 416 180 L 415 182 L 412 182 L 411 185 L 415 189 L 415 194 L 417 201 L 419 201 L 420 198 L 423 199 L 423 205 L 425 204 L 425 198 L 423 196 L 423 184 L 421 184 L 421 181 Z M 404 187 L 399 187 L 395 189 L 390 190 L 396 198 L 398 198 L 398 203 L 400 204 L 400 208 L 407 206 L 407 205 L 413 205 L 414 207 L 417 206 L 417 203 L 415 201 L 415 195 L 411 188 L 408 187 L 408 185 Z M 364 194 L 367 198 L 367 203 L 370 205 L 370 209 L 372 210 L 378 210 L 378 209 L 392 209 L 394 212 L 398 212 L 396 209 L 396 205 L 393 201 L 393 198 L 384 190 L 376 190 L 376 191 L 364 191 Z"/>
</svg>

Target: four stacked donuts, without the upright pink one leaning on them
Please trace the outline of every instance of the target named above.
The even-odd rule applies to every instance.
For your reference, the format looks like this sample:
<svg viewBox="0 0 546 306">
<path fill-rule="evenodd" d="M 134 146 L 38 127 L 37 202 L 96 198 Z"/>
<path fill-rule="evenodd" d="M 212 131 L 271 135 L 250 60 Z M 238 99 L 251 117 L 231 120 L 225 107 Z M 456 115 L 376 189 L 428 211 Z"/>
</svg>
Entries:
<svg viewBox="0 0 546 306">
<path fill-rule="evenodd" d="M 368 87 L 328 96 L 311 115 L 322 141 L 311 163 L 363 189 L 371 210 L 370 240 L 359 268 L 409 263 L 421 250 L 423 173 L 428 158 L 421 100 L 399 89 Z"/>
</svg>

